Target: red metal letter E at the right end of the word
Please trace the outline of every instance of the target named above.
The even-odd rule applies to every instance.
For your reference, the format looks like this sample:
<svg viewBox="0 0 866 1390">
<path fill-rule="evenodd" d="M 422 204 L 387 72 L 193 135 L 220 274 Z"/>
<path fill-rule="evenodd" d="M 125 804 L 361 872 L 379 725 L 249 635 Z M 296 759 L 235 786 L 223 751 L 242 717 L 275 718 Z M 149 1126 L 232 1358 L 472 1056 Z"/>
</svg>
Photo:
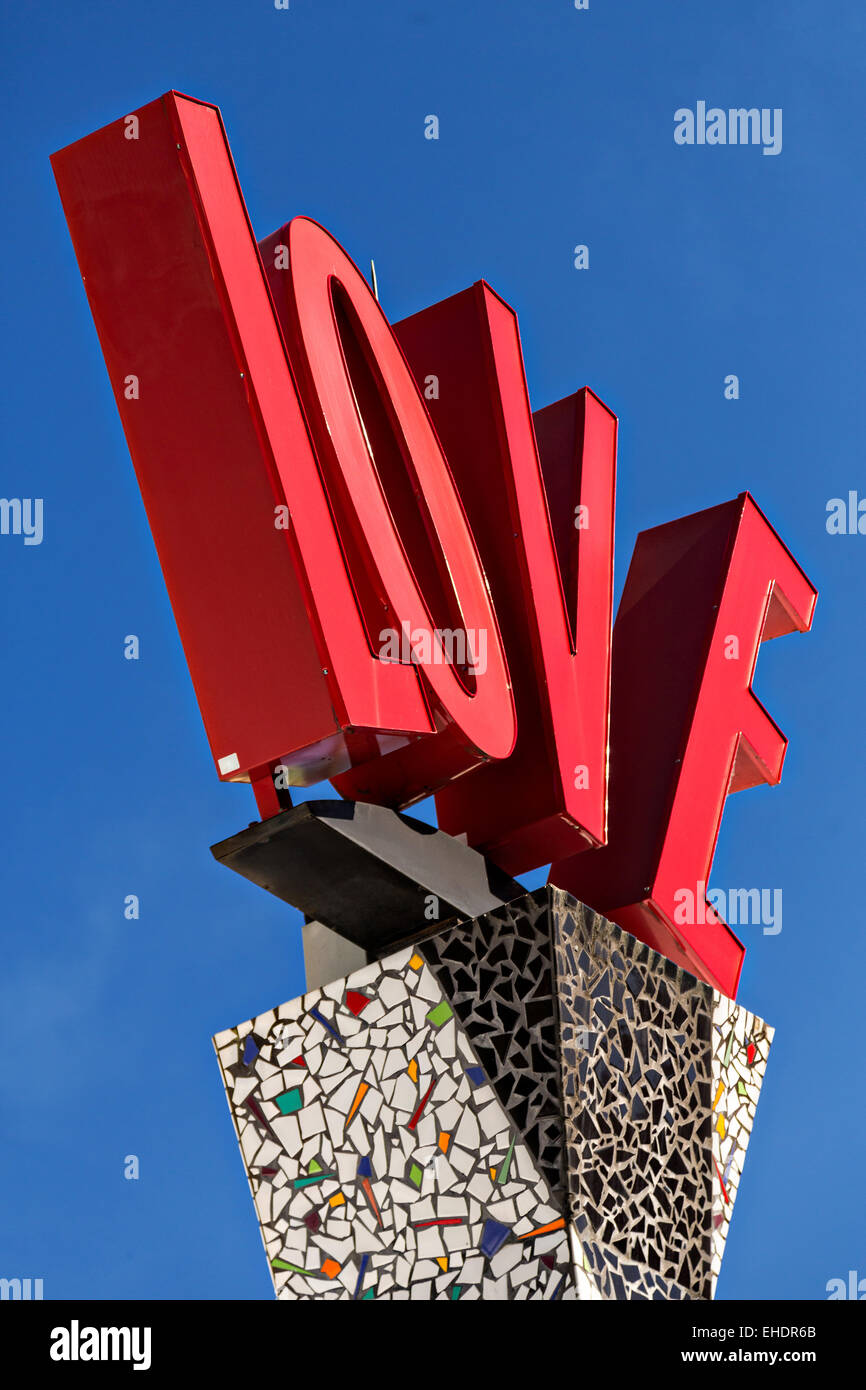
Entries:
<svg viewBox="0 0 866 1390">
<path fill-rule="evenodd" d="M 787 741 L 752 692 L 762 641 L 816 591 L 748 493 L 644 531 L 613 630 L 610 838 L 550 881 L 734 997 L 744 948 L 684 890 L 709 878 L 728 792 L 777 783 Z M 733 639 L 733 641 L 731 641 Z"/>
</svg>

